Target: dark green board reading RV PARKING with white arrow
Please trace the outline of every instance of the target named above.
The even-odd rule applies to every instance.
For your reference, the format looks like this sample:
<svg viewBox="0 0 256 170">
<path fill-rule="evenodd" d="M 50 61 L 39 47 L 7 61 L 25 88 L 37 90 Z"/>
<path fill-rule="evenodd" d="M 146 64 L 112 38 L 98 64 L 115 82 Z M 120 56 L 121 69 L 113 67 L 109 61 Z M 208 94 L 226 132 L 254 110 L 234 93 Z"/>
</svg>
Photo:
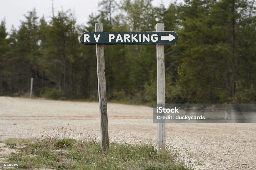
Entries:
<svg viewBox="0 0 256 170">
<path fill-rule="evenodd" d="M 84 32 L 83 44 L 173 44 L 178 41 L 174 31 L 163 32 Z"/>
</svg>

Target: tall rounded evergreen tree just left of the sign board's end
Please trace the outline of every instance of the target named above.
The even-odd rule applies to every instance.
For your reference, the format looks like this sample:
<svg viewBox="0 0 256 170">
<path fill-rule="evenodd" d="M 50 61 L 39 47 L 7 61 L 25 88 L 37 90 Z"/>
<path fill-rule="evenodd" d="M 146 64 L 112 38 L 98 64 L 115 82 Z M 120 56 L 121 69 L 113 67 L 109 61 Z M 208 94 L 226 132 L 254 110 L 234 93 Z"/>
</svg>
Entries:
<svg viewBox="0 0 256 170">
<path fill-rule="evenodd" d="M 50 79 L 57 84 L 66 98 L 73 95 L 73 62 L 78 55 L 78 33 L 76 20 L 70 12 L 59 11 L 47 29 L 46 57 Z"/>
</svg>

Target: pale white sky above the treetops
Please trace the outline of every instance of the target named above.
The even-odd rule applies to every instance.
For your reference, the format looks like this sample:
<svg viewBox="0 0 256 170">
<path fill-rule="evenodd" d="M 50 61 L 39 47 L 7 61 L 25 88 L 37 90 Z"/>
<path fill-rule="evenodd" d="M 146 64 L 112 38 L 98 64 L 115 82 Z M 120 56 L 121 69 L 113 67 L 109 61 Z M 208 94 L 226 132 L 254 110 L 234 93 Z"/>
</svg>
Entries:
<svg viewBox="0 0 256 170">
<path fill-rule="evenodd" d="M 86 25 L 88 16 L 92 12 L 98 14 L 99 1 L 101 0 L 54 0 L 55 14 L 61 10 L 61 7 L 64 11 L 71 9 L 75 13 L 77 24 Z M 120 2 L 120 0 L 116 1 Z M 160 2 L 161 0 L 153 0 L 152 4 L 159 6 Z M 167 8 L 172 0 L 163 0 L 163 2 Z M 27 11 L 33 10 L 34 7 L 39 18 L 44 15 L 46 20 L 49 20 L 49 16 L 52 15 L 51 3 L 51 0 L 0 0 L 0 22 L 5 17 L 7 32 L 10 31 L 12 24 L 18 29 L 20 20 L 25 20 L 24 14 L 27 15 Z"/>
</svg>

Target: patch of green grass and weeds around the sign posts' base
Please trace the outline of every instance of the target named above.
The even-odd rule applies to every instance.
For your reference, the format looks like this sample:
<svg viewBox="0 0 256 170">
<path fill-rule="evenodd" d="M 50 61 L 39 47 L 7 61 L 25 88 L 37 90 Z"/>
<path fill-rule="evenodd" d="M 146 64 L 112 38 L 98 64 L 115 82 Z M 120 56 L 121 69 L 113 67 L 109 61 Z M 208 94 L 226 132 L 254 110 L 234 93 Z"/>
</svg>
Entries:
<svg viewBox="0 0 256 170">
<path fill-rule="evenodd" d="M 102 153 L 100 143 L 92 139 L 60 140 L 9 140 L 16 144 L 17 152 L 6 159 L 20 163 L 14 169 L 191 169 L 176 163 L 176 154 L 168 150 L 158 154 L 151 143 L 110 143 L 109 152 Z"/>
</svg>

